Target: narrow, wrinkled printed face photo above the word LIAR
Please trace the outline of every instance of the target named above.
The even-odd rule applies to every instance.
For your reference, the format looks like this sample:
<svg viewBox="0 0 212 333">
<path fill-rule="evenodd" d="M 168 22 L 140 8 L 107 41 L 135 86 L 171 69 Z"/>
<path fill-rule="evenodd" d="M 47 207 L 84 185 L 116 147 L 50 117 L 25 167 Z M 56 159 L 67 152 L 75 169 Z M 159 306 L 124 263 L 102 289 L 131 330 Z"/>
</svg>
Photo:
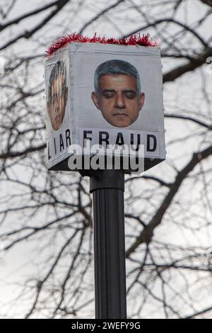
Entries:
<svg viewBox="0 0 212 333">
<path fill-rule="evenodd" d="M 49 77 L 47 101 L 47 111 L 54 130 L 59 130 L 64 120 L 67 98 L 66 68 L 64 62 L 58 61 Z"/>
</svg>

